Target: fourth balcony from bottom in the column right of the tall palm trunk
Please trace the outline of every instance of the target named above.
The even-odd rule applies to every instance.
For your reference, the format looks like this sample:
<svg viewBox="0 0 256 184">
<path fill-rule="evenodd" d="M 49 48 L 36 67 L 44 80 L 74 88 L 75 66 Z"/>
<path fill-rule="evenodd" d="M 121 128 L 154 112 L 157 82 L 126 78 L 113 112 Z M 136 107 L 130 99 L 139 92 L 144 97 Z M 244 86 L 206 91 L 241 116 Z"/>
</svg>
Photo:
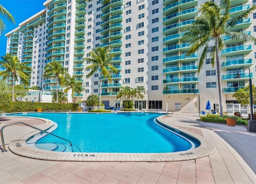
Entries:
<svg viewBox="0 0 256 184">
<path fill-rule="evenodd" d="M 239 46 L 224 48 L 221 52 L 221 56 L 248 54 L 250 52 L 252 52 L 252 45 L 239 45 Z"/>
</svg>

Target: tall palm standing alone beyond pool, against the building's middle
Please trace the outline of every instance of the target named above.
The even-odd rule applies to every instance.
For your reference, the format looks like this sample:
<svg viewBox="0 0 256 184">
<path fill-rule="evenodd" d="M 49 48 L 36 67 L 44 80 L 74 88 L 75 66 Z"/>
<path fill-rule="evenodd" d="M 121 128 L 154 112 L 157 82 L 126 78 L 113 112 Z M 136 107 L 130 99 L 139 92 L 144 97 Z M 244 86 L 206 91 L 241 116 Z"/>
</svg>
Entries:
<svg viewBox="0 0 256 184">
<path fill-rule="evenodd" d="M 88 74 L 88 77 L 92 76 L 93 74 L 98 72 L 98 70 L 100 70 L 99 106 L 101 102 L 102 77 L 108 78 L 111 82 L 112 80 L 108 70 L 111 70 L 115 74 L 117 73 L 117 69 L 110 63 L 113 59 L 113 55 L 109 55 L 108 52 L 108 49 L 105 49 L 103 47 L 93 48 L 92 52 L 90 52 L 91 58 L 85 58 L 88 62 L 92 63 L 92 65 L 86 67 L 86 69 L 91 70 L 91 72 Z"/>
</svg>

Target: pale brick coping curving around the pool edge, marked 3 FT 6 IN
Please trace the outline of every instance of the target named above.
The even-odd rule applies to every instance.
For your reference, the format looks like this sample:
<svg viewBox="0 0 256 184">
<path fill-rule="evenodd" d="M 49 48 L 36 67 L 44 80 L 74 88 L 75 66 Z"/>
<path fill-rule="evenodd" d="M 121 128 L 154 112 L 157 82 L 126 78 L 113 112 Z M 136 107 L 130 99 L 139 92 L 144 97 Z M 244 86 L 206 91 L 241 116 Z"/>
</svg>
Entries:
<svg viewBox="0 0 256 184">
<path fill-rule="evenodd" d="M 164 123 L 158 116 L 157 120 L 161 124 L 168 126 Z M 17 116 L 15 116 L 17 117 Z M 26 117 L 32 118 L 32 117 Z M 34 117 L 33 117 L 34 118 Z M 46 124 L 40 128 L 42 130 L 47 130 L 53 125 L 53 122 L 45 118 L 34 118 L 44 120 Z M 181 151 L 181 152 L 171 152 L 171 153 L 94 153 L 94 152 L 54 152 L 48 150 L 41 150 L 38 148 L 30 147 L 26 144 L 26 141 L 40 134 L 40 131 L 36 130 L 22 136 L 19 140 L 14 140 L 9 143 L 9 150 L 14 154 L 35 158 L 40 160 L 54 160 L 54 161 L 86 161 L 86 162 L 170 162 L 170 161 L 182 161 L 182 160 L 192 160 L 196 158 L 201 158 L 212 154 L 216 146 L 214 142 L 210 139 L 206 139 L 198 134 L 189 132 L 177 126 L 168 126 L 175 129 L 177 132 L 182 132 L 193 136 L 200 141 L 200 146 L 194 149 Z"/>
</svg>

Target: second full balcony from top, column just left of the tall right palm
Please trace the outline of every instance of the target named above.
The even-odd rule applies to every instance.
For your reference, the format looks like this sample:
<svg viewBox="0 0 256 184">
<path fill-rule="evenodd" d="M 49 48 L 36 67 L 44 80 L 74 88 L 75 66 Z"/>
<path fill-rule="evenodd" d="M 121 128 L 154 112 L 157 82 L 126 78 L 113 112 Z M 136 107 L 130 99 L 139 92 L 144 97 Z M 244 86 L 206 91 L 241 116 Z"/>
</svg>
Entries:
<svg viewBox="0 0 256 184">
<path fill-rule="evenodd" d="M 197 8 L 190 8 L 187 10 L 182 10 L 180 12 L 176 12 L 174 14 L 170 14 L 163 18 L 163 24 L 172 24 L 174 22 L 178 22 L 178 20 L 185 20 L 188 18 L 192 18 L 197 16 Z"/>
</svg>

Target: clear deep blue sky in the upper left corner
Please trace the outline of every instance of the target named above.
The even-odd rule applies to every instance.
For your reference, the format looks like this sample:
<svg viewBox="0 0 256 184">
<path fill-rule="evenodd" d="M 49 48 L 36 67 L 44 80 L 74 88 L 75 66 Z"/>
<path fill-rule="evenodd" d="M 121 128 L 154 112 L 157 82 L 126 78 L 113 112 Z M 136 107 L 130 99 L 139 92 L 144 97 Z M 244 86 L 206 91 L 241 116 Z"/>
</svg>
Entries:
<svg viewBox="0 0 256 184">
<path fill-rule="evenodd" d="M 4 21 L 6 25 L 6 31 L 2 31 L 0 35 L 0 56 L 6 54 L 6 41 L 4 36 L 6 33 L 17 28 L 21 22 L 28 19 L 30 16 L 40 12 L 45 7 L 43 6 L 46 0 L 0 0 L 0 4 L 12 14 L 15 20 L 15 24 L 8 22 L 2 15 L 0 19 Z"/>
</svg>

